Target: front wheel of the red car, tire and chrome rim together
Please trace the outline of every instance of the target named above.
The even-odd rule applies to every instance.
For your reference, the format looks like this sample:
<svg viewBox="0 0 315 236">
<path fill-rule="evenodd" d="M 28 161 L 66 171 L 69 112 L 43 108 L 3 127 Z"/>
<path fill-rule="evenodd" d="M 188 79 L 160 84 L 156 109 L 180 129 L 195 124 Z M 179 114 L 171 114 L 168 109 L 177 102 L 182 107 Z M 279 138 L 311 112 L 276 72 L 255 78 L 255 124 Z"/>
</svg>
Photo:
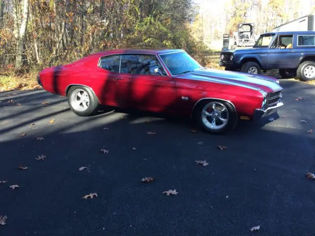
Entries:
<svg viewBox="0 0 315 236">
<path fill-rule="evenodd" d="M 222 101 L 200 102 L 195 109 L 194 119 L 200 127 L 213 134 L 232 130 L 237 123 L 234 108 Z"/>
</svg>

